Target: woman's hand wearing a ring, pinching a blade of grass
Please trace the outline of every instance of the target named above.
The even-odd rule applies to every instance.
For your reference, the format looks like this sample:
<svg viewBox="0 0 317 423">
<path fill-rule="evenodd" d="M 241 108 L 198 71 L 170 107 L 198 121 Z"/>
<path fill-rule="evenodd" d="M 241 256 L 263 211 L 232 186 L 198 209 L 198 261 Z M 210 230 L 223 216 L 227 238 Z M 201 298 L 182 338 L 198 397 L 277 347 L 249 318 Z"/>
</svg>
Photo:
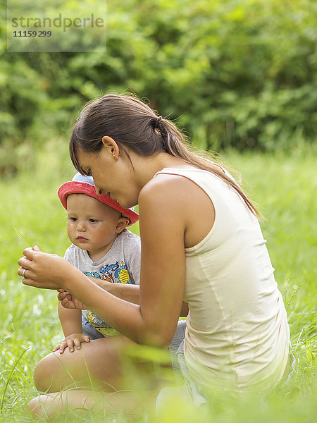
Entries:
<svg viewBox="0 0 317 423">
<path fill-rule="evenodd" d="M 66 282 L 72 279 L 73 271 L 77 271 L 69 262 L 58 255 L 41 252 L 38 248 L 35 250 L 35 247 L 26 248 L 23 254 L 24 257 L 18 260 L 22 283 L 36 288 L 69 290 Z"/>
</svg>

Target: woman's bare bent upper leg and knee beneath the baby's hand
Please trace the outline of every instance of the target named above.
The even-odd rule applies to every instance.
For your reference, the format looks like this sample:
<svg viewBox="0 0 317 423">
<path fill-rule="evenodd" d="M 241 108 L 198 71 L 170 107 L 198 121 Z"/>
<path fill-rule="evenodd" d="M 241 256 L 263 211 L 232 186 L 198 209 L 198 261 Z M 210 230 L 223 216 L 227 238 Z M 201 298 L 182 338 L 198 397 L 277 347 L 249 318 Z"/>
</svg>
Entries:
<svg viewBox="0 0 317 423">
<path fill-rule="evenodd" d="M 35 386 L 41 392 L 73 387 L 113 392 L 154 390 L 170 384 L 168 351 L 165 364 L 152 362 L 147 348 L 145 353 L 144 357 L 142 345 L 123 335 L 82 343 L 73 353 L 66 348 L 63 354 L 51 353 L 42 358 L 35 368 Z"/>
</svg>

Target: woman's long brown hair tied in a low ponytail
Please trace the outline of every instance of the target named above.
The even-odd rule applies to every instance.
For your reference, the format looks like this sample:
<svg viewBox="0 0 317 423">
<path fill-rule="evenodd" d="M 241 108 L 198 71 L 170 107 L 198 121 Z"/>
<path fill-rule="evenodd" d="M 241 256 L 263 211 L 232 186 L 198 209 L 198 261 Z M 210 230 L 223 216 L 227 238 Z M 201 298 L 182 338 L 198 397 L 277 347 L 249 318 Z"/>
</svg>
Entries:
<svg viewBox="0 0 317 423">
<path fill-rule="evenodd" d="M 240 185 L 225 173 L 222 166 L 190 151 L 185 136 L 175 124 L 157 116 L 137 97 L 106 94 L 85 105 L 70 135 L 70 158 L 77 171 L 83 173 L 76 157 L 77 148 L 83 152 L 98 153 L 103 146 L 104 135 L 116 140 L 127 155 L 125 147 L 144 157 L 166 152 L 213 173 L 240 194 L 253 214 L 261 216 Z"/>
</svg>

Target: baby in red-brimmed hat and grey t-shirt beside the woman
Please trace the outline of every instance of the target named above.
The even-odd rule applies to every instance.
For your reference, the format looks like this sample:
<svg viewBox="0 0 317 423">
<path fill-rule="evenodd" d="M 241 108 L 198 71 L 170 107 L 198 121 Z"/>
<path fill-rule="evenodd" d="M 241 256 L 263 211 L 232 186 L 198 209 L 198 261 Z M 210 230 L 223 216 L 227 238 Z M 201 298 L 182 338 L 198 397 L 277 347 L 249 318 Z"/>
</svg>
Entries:
<svg viewBox="0 0 317 423">
<path fill-rule="evenodd" d="M 73 243 L 64 259 L 103 283 L 139 284 L 140 238 L 126 229 L 139 216 L 133 209 L 123 209 L 108 195 L 97 195 L 92 176 L 77 173 L 58 189 L 58 197 L 67 210 L 68 237 Z M 63 353 L 80 349 L 80 343 L 104 336 L 118 335 L 89 309 L 65 309 L 58 304 L 64 341 L 53 351 Z"/>
</svg>

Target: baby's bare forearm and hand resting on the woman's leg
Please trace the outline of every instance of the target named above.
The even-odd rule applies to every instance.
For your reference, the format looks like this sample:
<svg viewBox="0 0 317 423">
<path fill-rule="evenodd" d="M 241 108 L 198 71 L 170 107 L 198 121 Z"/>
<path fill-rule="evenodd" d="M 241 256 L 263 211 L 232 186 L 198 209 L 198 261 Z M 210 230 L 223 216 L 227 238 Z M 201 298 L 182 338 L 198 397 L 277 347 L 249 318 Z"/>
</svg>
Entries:
<svg viewBox="0 0 317 423">
<path fill-rule="evenodd" d="M 58 317 L 65 336 L 64 341 L 56 345 L 53 352 L 59 350 L 62 354 L 66 347 L 73 353 L 74 345 L 80 350 L 82 342 L 89 342 L 90 338 L 82 334 L 82 312 L 77 309 L 65 309 L 58 301 Z"/>
</svg>

